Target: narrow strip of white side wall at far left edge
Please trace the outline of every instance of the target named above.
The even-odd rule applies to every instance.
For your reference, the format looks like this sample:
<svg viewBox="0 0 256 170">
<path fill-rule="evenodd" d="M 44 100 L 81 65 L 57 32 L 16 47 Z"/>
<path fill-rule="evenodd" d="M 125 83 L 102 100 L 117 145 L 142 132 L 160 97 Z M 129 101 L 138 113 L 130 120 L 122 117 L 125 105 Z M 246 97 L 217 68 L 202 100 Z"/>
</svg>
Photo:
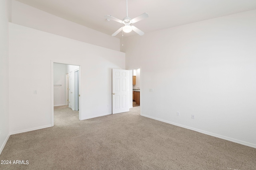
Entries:
<svg viewBox="0 0 256 170">
<path fill-rule="evenodd" d="M 9 137 L 9 62 L 7 0 L 0 1 L 0 154 Z"/>
</svg>

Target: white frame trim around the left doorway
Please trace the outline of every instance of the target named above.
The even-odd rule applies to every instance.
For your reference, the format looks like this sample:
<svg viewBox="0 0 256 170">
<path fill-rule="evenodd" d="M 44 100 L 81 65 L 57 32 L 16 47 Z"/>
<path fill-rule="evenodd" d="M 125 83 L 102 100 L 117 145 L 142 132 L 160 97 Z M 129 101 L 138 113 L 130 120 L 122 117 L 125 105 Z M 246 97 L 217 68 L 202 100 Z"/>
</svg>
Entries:
<svg viewBox="0 0 256 170">
<path fill-rule="evenodd" d="M 81 94 L 82 88 L 80 88 L 80 82 L 81 82 L 81 65 L 78 63 L 71 63 L 71 62 L 65 62 L 65 61 L 55 61 L 51 60 L 51 126 L 54 126 L 54 82 L 53 82 L 53 63 L 59 63 L 59 64 L 67 64 L 67 65 L 76 65 L 79 66 L 79 93 Z M 82 100 L 82 97 L 79 98 L 79 102 Z M 82 113 L 82 106 L 79 106 L 79 120 L 81 120 L 81 113 Z"/>
</svg>

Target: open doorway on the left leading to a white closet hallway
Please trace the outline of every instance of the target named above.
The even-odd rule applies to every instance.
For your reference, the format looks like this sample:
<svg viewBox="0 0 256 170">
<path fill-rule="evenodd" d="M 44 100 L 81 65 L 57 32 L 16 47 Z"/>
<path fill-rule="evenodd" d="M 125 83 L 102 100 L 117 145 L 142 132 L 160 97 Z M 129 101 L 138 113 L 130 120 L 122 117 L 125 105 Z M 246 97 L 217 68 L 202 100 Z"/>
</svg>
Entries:
<svg viewBox="0 0 256 170">
<path fill-rule="evenodd" d="M 80 120 L 80 65 L 52 61 L 51 125 L 54 125 L 54 106 L 78 111 Z"/>
</svg>

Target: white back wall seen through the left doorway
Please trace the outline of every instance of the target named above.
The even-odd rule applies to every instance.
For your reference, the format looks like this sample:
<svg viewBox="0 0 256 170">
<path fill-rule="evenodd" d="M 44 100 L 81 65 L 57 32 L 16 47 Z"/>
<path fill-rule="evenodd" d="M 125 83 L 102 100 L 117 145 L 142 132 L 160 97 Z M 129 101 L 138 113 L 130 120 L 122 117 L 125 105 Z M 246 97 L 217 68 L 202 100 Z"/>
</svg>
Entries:
<svg viewBox="0 0 256 170">
<path fill-rule="evenodd" d="M 66 64 L 53 64 L 54 106 L 66 105 Z"/>
</svg>

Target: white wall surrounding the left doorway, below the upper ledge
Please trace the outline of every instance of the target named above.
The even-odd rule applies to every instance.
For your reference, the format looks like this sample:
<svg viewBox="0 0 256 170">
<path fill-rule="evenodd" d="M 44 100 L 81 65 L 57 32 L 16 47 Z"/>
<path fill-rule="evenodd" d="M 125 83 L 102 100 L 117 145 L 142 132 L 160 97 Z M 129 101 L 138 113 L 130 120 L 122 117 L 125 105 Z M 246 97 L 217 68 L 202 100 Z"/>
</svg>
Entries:
<svg viewBox="0 0 256 170">
<path fill-rule="evenodd" d="M 52 62 L 80 65 L 81 119 L 112 113 L 112 68 L 125 68 L 124 53 L 14 23 L 9 33 L 10 133 L 51 126 Z"/>
</svg>

